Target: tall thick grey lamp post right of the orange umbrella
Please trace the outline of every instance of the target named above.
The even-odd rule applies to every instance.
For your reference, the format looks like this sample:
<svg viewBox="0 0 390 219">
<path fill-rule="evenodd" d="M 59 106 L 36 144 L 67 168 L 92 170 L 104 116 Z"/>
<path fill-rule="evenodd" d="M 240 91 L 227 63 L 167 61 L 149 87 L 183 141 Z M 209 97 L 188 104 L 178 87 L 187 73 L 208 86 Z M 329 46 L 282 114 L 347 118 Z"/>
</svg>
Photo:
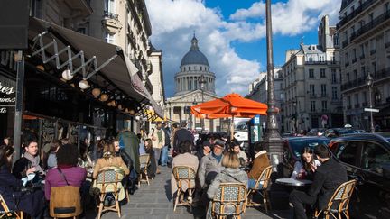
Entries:
<svg viewBox="0 0 390 219">
<path fill-rule="evenodd" d="M 263 145 L 270 154 L 274 171 L 283 160 L 283 140 L 278 131 L 276 101 L 274 98 L 274 57 L 272 43 L 271 0 L 265 2 L 266 45 L 267 45 L 267 119 Z M 282 172 L 282 171 L 281 171 Z"/>
</svg>

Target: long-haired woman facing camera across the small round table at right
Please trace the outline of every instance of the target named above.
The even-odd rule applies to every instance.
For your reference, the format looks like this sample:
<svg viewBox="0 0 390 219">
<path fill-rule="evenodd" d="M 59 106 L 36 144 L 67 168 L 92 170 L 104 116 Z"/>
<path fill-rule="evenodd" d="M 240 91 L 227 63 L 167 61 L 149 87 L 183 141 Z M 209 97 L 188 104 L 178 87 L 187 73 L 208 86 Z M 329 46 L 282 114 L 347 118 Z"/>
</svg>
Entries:
<svg viewBox="0 0 390 219">
<path fill-rule="evenodd" d="M 291 178 L 313 178 L 313 174 L 319 166 L 320 161 L 314 159 L 313 150 L 305 147 L 301 153 L 301 161 L 296 161 L 294 164 Z"/>
</svg>

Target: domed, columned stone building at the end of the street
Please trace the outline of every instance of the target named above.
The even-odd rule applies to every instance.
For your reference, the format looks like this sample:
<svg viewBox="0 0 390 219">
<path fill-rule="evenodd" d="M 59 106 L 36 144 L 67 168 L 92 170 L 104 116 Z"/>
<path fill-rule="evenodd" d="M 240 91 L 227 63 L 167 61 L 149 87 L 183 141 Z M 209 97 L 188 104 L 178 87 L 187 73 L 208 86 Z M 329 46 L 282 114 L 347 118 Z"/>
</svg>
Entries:
<svg viewBox="0 0 390 219">
<path fill-rule="evenodd" d="M 220 132 L 220 120 L 203 120 L 190 114 L 190 106 L 219 98 L 215 93 L 215 74 L 209 71 L 209 60 L 200 51 L 193 36 L 190 50 L 181 59 L 180 71 L 175 74 L 175 93 L 167 99 L 166 116 L 174 122 L 187 121 L 190 129 Z"/>
</svg>

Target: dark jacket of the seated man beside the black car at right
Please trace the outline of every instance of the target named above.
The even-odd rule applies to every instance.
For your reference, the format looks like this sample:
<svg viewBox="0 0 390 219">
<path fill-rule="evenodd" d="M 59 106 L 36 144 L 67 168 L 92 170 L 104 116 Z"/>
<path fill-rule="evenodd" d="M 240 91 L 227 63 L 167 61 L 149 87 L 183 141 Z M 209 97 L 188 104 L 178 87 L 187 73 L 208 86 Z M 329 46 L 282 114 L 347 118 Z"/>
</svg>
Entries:
<svg viewBox="0 0 390 219">
<path fill-rule="evenodd" d="M 339 185 L 347 180 L 347 170 L 336 160 L 327 160 L 317 168 L 308 195 L 318 196 L 319 208 L 323 209 Z"/>
</svg>

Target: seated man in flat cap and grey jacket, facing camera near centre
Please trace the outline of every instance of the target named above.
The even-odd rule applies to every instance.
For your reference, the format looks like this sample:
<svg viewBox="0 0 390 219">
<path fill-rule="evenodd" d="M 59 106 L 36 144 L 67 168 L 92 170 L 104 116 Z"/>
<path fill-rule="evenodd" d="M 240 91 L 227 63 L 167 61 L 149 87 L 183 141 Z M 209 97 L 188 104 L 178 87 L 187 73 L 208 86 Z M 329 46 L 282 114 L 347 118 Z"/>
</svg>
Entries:
<svg viewBox="0 0 390 219">
<path fill-rule="evenodd" d="M 224 141 L 216 140 L 212 152 L 200 160 L 200 168 L 198 169 L 200 187 L 208 187 L 211 181 L 223 169 L 220 162 L 222 160 L 224 148 Z"/>
</svg>

